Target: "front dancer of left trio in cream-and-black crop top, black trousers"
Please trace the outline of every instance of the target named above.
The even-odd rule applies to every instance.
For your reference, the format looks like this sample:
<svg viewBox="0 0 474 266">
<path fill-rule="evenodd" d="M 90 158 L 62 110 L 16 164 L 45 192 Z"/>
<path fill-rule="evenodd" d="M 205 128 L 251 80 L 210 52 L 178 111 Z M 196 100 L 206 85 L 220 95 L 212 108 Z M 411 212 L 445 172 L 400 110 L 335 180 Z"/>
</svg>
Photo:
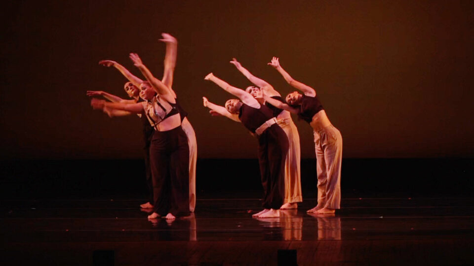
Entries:
<svg viewBox="0 0 474 266">
<path fill-rule="evenodd" d="M 189 214 L 189 147 L 186 133 L 171 90 L 155 78 L 137 54 L 130 59 L 147 78 L 140 85 L 140 97 L 147 102 L 126 104 L 92 99 L 94 108 L 104 106 L 135 113 L 144 113 L 155 129 L 150 147 L 153 176 L 154 212 L 148 216 L 166 219 Z"/>
</svg>

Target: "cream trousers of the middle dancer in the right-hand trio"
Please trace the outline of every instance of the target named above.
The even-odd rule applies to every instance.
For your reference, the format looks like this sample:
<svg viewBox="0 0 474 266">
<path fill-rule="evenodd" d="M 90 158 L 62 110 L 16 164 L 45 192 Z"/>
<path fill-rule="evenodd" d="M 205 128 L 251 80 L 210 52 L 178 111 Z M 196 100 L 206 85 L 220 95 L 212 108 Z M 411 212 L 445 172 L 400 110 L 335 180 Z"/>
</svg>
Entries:
<svg viewBox="0 0 474 266">
<path fill-rule="evenodd" d="M 301 193 L 301 150 L 300 136 L 295 123 L 291 118 L 282 124 L 278 124 L 288 137 L 288 153 L 285 161 L 285 199 L 283 203 L 294 203 L 303 201 Z"/>
</svg>

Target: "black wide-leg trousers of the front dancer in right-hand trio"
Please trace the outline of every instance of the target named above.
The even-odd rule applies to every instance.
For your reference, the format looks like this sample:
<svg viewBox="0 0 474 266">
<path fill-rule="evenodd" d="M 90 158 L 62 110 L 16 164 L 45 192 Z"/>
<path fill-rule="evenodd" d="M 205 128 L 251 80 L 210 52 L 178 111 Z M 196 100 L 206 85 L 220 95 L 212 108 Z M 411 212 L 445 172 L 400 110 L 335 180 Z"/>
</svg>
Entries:
<svg viewBox="0 0 474 266">
<path fill-rule="evenodd" d="M 274 124 L 258 136 L 258 161 L 264 192 L 263 207 L 279 209 L 285 198 L 285 160 L 288 137 Z"/>
</svg>

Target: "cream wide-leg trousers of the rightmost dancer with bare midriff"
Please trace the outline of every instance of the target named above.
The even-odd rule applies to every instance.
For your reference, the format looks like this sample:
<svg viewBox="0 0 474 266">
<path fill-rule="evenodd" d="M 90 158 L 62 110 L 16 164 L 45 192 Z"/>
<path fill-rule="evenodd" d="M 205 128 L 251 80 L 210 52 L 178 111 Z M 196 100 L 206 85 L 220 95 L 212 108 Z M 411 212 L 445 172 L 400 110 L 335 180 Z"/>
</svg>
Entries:
<svg viewBox="0 0 474 266">
<path fill-rule="evenodd" d="M 341 207 L 342 135 L 333 125 L 315 130 L 317 205 Z"/>
</svg>

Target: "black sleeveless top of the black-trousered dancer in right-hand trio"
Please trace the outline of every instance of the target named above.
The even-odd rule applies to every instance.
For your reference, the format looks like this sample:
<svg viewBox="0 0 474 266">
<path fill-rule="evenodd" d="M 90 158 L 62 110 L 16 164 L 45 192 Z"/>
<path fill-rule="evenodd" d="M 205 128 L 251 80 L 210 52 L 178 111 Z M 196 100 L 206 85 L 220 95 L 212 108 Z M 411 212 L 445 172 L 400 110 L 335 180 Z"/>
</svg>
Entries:
<svg viewBox="0 0 474 266">
<path fill-rule="evenodd" d="M 252 133 L 273 117 L 272 109 L 263 104 L 260 104 L 260 109 L 257 109 L 244 103 L 238 112 L 240 122 Z"/>
</svg>

